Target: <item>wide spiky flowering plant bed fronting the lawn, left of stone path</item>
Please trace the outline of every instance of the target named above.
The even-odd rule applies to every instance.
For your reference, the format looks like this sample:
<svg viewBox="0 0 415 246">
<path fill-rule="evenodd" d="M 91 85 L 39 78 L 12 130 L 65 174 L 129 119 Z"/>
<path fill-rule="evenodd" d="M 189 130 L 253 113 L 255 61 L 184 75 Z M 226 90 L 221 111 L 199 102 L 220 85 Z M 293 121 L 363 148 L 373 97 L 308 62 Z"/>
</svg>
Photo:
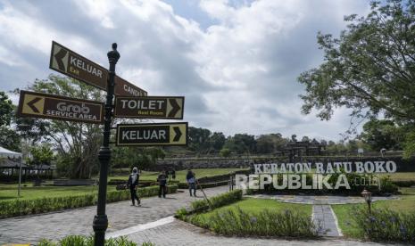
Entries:
<svg viewBox="0 0 415 246">
<path fill-rule="evenodd" d="M 212 216 L 195 215 L 189 222 L 217 234 L 237 236 L 285 236 L 318 237 L 320 226 L 314 225 L 303 212 L 286 209 L 284 211 L 263 210 L 247 213 L 243 209 L 216 211 Z"/>
</svg>

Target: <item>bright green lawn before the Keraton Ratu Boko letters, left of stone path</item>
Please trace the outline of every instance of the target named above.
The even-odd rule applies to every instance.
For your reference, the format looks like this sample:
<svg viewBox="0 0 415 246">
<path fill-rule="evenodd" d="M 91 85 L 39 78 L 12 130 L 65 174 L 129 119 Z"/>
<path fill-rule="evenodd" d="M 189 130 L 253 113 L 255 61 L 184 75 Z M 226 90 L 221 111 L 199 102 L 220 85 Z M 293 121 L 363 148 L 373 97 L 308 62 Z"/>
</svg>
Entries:
<svg viewBox="0 0 415 246">
<path fill-rule="evenodd" d="M 206 212 L 197 216 L 210 217 L 216 211 L 223 211 L 225 209 L 237 209 L 237 207 L 251 213 L 259 213 L 264 209 L 273 211 L 293 209 L 302 210 L 305 214 L 311 216 L 312 212 L 312 206 L 309 204 L 293 204 L 270 199 L 244 198 L 242 201 L 237 201 L 228 206 L 220 207 L 219 209 L 213 209 L 210 212 Z"/>
</svg>

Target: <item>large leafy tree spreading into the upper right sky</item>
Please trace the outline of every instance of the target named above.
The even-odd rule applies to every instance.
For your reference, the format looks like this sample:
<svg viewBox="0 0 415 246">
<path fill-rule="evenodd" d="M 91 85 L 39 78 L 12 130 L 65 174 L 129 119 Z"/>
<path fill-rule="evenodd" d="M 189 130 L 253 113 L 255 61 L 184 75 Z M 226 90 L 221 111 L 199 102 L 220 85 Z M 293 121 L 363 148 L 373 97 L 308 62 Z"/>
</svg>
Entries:
<svg viewBox="0 0 415 246">
<path fill-rule="evenodd" d="M 346 107 L 353 117 L 382 112 L 413 123 L 415 1 L 372 2 L 367 16 L 352 14 L 344 21 L 340 37 L 318 34 L 325 61 L 298 78 L 306 91 L 303 113 L 316 109 L 320 119 L 330 119 L 336 107 Z"/>
</svg>

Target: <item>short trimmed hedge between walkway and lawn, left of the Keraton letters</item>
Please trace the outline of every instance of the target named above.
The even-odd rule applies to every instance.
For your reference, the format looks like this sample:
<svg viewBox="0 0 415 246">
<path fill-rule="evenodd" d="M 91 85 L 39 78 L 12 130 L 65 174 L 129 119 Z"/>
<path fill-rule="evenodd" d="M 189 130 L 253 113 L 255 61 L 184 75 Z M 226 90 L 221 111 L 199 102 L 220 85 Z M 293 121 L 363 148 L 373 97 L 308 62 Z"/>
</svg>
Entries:
<svg viewBox="0 0 415 246">
<path fill-rule="evenodd" d="M 242 200 L 242 190 L 235 190 L 228 193 L 223 193 L 217 196 L 213 196 L 209 201 L 198 200 L 194 201 L 191 204 L 191 208 L 195 212 L 202 212 L 207 209 L 216 209 L 222 206 L 234 203 L 236 201 Z"/>
</svg>

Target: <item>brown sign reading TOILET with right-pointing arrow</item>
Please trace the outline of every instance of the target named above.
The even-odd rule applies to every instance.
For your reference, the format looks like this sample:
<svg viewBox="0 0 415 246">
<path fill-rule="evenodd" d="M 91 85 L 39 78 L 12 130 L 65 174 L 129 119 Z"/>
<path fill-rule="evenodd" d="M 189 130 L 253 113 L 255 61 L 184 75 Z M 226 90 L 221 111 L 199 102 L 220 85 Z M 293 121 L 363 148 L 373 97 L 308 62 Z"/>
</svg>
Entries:
<svg viewBox="0 0 415 246">
<path fill-rule="evenodd" d="M 184 104 L 183 96 L 116 96 L 114 116 L 136 119 L 183 119 Z"/>
</svg>

